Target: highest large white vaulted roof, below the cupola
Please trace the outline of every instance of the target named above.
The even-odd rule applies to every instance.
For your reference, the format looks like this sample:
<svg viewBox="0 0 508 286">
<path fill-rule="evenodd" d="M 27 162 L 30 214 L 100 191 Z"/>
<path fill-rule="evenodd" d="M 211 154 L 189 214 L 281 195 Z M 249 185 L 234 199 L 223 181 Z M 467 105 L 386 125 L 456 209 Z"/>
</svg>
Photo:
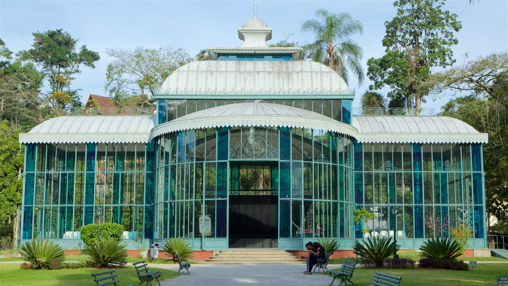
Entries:
<svg viewBox="0 0 508 286">
<path fill-rule="evenodd" d="M 350 94 L 329 67 L 311 61 L 197 61 L 171 73 L 158 94 L 341 95 Z"/>
</svg>

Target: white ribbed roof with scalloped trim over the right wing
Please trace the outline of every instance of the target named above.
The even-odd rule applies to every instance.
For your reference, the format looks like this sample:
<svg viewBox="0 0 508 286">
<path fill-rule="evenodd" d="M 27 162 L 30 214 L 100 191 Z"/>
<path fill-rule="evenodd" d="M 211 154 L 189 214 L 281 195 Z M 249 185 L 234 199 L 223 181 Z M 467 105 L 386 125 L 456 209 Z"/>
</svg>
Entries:
<svg viewBox="0 0 508 286">
<path fill-rule="evenodd" d="M 353 116 L 359 142 L 481 143 L 488 134 L 469 124 L 444 116 Z"/>
</svg>

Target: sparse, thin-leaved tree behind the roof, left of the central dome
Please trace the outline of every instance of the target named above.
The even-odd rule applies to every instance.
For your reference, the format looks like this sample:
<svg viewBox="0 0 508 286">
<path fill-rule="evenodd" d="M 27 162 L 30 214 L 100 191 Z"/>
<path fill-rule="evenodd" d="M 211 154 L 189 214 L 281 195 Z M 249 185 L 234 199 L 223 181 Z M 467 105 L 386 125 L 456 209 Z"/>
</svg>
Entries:
<svg viewBox="0 0 508 286">
<path fill-rule="evenodd" d="M 184 49 L 170 46 L 109 48 L 106 53 L 113 58 L 106 71 L 106 91 L 116 100 L 142 96 L 146 103 L 174 70 L 192 61 Z"/>
</svg>

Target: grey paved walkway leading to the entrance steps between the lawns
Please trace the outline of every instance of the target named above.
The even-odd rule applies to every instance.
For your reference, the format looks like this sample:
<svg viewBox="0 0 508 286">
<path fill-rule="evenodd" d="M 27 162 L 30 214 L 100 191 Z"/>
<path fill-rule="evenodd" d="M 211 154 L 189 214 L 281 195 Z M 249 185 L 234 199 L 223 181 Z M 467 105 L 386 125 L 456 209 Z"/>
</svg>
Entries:
<svg viewBox="0 0 508 286">
<path fill-rule="evenodd" d="M 151 265 L 161 268 L 161 264 Z M 167 269 L 178 271 L 178 265 L 165 265 Z M 328 269 L 340 268 L 329 265 Z M 174 279 L 161 281 L 161 285 L 328 285 L 332 281 L 329 275 L 313 273 L 305 275 L 305 264 L 193 264 L 190 275 L 180 271 Z M 185 273 L 184 273 L 185 272 Z M 323 272 L 321 272 L 323 273 Z"/>
</svg>

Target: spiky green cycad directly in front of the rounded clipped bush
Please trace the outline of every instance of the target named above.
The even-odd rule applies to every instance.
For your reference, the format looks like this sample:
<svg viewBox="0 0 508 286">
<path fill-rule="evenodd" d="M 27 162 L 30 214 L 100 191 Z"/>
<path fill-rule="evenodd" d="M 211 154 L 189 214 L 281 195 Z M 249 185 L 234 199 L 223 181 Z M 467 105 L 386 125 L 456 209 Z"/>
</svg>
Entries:
<svg viewBox="0 0 508 286">
<path fill-rule="evenodd" d="M 99 242 L 95 240 L 92 245 L 85 245 L 85 253 L 92 259 L 93 266 L 99 267 L 123 266 L 129 258 L 125 246 L 113 238 L 101 239 Z"/>
</svg>

